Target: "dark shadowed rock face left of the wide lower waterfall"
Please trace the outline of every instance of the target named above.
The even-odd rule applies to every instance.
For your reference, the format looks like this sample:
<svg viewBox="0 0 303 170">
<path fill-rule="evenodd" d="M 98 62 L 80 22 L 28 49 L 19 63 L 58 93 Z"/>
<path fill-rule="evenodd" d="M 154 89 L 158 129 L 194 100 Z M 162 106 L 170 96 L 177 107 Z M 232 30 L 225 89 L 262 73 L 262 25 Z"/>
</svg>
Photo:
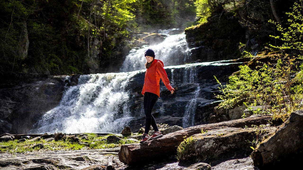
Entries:
<svg viewBox="0 0 303 170">
<path fill-rule="evenodd" d="M 28 133 L 43 113 L 58 105 L 66 76 L 2 74 L 0 134 Z"/>
</svg>

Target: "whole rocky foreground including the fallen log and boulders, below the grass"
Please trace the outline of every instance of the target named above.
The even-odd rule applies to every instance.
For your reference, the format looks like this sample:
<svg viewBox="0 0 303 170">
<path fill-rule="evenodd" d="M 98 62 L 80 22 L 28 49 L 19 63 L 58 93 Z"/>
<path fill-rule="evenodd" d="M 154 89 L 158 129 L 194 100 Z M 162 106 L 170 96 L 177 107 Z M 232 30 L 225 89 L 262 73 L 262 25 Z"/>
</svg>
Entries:
<svg viewBox="0 0 303 170">
<path fill-rule="evenodd" d="M 0 169 L 5 170 L 258 170 L 294 169 L 301 162 L 303 110 L 291 113 L 281 125 L 263 126 L 269 116 L 251 116 L 245 119 L 198 125 L 170 132 L 148 141 L 147 144 L 125 144 L 113 149 L 88 149 L 34 151 L 25 154 L 0 153 Z M 255 125 L 260 123 L 259 126 Z M 241 127 L 242 128 L 241 128 Z M 243 128 L 244 127 L 244 128 Z M 257 128 L 259 127 L 259 128 Z M 201 129 L 208 132 L 201 133 Z M 165 131 L 165 130 L 163 130 Z M 262 136 L 261 132 L 264 134 Z M 247 133 L 248 132 L 248 133 Z M 257 133 L 258 132 L 258 133 Z M 163 151 L 176 148 L 176 139 L 182 136 L 192 138 L 191 148 L 178 156 L 164 156 Z M 194 135 L 189 135 L 194 134 Z M 262 138 L 253 151 L 248 151 L 248 136 Z M 180 137 L 181 136 L 181 137 Z M 245 137 L 246 136 L 246 137 Z M 2 136 L 1 138 L 3 138 Z M 108 140 L 108 139 L 107 139 Z M 176 141 L 171 143 L 170 141 Z M 244 144 L 239 148 L 239 144 Z M 158 147 L 157 147 L 158 145 Z M 180 144 L 181 145 L 181 144 Z M 179 145 L 179 146 L 180 146 Z M 135 146 L 135 147 L 134 147 Z M 183 145 L 185 146 L 185 145 Z M 244 147 L 245 146 L 245 147 Z M 0 146 L 10 147 L 10 146 Z M 128 148 L 130 147 L 130 148 Z M 128 148 L 128 149 L 127 149 Z M 154 148 L 154 149 L 153 149 Z M 202 160 L 212 150 L 211 157 Z M 129 151 L 129 152 L 128 152 Z M 148 152 L 147 152 L 148 151 Z M 243 152 L 245 151 L 245 152 Z M 248 152 L 247 152 L 248 151 Z M 123 154 L 121 154 L 123 153 Z M 140 154 L 132 155 L 132 153 Z M 166 152 L 168 153 L 168 152 Z M 179 151 L 178 151 L 179 153 Z M 149 156 L 146 156 L 149 155 Z M 131 160 L 136 157 L 137 160 Z M 178 159 L 176 159 L 178 157 Z M 161 158 L 161 159 L 159 159 Z M 183 159 L 184 158 L 184 159 Z M 125 165 L 126 162 L 129 164 Z M 155 161 L 153 161 L 155 160 Z M 196 163 L 198 162 L 198 163 Z M 132 163 L 132 165 L 130 164 Z"/>
</svg>

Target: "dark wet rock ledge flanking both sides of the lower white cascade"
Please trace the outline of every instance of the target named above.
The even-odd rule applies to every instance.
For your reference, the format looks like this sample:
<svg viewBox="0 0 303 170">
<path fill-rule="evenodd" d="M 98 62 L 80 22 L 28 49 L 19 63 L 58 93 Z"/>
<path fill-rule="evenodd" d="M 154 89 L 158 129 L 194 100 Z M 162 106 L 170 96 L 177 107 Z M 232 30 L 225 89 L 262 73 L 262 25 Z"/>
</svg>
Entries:
<svg viewBox="0 0 303 170">
<path fill-rule="evenodd" d="M 208 123 L 210 117 L 215 116 L 213 108 L 218 104 L 214 96 L 218 91 L 214 76 L 224 82 L 240 64 L 229 61 L 222 65 L 166 69 L 175 93 L 171 94 L 160 82 L 161 94 L 153 110 L 157 123 L 185 128 L 185 116 L 191 119 L 186 123 L 187 127 Z M 144 71 L 139 72 L 126 87 L 131 99 L 127 106 L 135 117 L 128 123 L 133 131 L 138 131 L 145 122 L 141 94 L 144 76 Z M 0 84 L 0 115 L 3 115 L 0 117 L 0 134 L 26 134 L 45 112 L 58 106 L 65 87 L 78 84 L 79 75 L 6 74 L 3 77 Z M 213 119 L 213 122 L 219 121 Z"/>
</svg>

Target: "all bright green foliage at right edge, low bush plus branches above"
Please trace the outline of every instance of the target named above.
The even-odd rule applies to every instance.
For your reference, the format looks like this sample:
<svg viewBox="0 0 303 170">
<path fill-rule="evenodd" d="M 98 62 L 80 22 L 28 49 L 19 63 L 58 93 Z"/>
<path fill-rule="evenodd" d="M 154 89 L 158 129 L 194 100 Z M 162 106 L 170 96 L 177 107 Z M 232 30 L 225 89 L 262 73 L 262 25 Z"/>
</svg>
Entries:
<svg viewBox="0 0 303 170">
<path fill-rule="evenodd" d="M 281 39 L 285 43 L 281 46 L 271 45 L 271 47 L 282 50 L 284 53 L 269 56 L 270 62 L 259 63 L 261 66 L 254 70 L 247 65 L 240 66 L 240 71 L 229 77 L 226 85 L 222 85 L 217 80 L 222 92 L 217 97 L 224 100 L 219 107 L 229 109 L 242 103 L 247 108 L 260 105 L 262 109 L 255 110 L 255 114 L 271 113 L 274 118 L 284 120 L 291 112 L 303 107 L 301 7 L 302 0 L 295 2 L 293 11 L 287 13 L 289 16 L 287 28 L 276 24 L 282 38 L 272 37 Z M 298 57 L 295 57 L 295 54 Z"/>
</svg>

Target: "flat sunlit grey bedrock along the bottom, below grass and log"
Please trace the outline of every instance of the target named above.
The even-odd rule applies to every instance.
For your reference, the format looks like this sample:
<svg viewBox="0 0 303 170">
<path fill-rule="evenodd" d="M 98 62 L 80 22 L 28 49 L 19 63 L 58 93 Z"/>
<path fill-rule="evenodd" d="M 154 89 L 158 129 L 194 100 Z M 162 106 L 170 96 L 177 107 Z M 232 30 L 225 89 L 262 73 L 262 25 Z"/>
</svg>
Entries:
<svg viewBox="0 0 303 170">
<path fill-rule="evenodd" d="M 93 149 L 76 151 L 46 151 L 31 152 L 27 154 L 12 155 L 0 154 L 0 169 L 5 170 L 51 170 L 51 169 L 75 169 L 95 170 L 108 169 L 108 158 L 114 155 L 113 167 L 116 170 L 189 170 L 190 165 L 179 164 L 178 161 L 144 163 L 142 165 L 128 166 L 120 162 L 118 152 L 120 148 Z M 142 151 L 143 152 L 143 151 Z M 144 153 L 142 153 L 144 154 Z M 145 153 L 148 154 L 148 153 Z M 210 162 L 213 170 L 226 169 L 257 169 L 253 166 L 252 159 L 248 157 L 226 157 L 225 160 Z"/>
</svg>

